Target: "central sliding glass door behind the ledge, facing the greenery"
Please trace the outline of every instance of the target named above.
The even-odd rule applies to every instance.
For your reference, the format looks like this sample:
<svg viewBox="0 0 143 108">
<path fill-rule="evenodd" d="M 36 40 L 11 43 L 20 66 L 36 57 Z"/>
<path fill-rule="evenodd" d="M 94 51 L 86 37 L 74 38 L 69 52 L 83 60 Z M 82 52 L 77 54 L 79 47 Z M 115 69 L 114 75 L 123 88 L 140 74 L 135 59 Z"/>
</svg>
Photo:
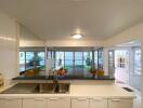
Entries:
<svg viewBox="0 0 143 108">
<path fill-rule="evenodd" d="M 55 68 L 64 67 L 68 76 L 83 77 L 84 62 L 90 65 L 88 57 L 83 59 L 83 52 L 55 52 Z"/>
</svg>

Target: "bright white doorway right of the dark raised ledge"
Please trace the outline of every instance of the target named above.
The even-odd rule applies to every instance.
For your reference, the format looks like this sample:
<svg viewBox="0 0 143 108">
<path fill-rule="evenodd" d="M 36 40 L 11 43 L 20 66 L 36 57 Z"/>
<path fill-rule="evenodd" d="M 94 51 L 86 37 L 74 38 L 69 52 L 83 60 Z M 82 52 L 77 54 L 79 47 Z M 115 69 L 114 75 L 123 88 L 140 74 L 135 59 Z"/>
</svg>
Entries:
<svg viewBox="0 0 143 108">
<path fill-rule="evenodd" d="M 108 51 L 108 72 L 118 83 L 129 83 L 129 50 Z"/>
</svg>

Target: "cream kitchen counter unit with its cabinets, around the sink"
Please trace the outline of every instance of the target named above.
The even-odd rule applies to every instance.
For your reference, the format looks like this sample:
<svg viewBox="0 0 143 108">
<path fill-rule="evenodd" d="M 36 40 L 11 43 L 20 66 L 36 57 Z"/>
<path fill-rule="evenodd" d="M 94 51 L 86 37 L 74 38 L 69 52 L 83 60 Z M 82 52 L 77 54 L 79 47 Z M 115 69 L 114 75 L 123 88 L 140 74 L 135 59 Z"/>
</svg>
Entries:
<svg viewBox="0 0 143 108">
<path fill-rule="evenodd" d="M 30 93 L 34 83 L 21 84 L 13 93 L 1 92 L 0 108 L 133 108 L 135 97 L 116 84 L 70 83 L 66 94 Z"/>
</svg>

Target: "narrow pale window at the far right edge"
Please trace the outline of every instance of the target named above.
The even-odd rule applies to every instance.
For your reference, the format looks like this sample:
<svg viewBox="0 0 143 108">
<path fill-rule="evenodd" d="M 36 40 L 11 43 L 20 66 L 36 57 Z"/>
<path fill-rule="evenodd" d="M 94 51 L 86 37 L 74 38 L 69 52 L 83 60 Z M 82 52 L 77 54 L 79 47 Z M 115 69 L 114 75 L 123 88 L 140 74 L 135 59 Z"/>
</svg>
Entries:
<svg viewBox="0 0 143 108">
<path fill-rule="evenodd" d="M 141 76 L 141 49 L 134 49 L 134 76 Z"/>
</svg>

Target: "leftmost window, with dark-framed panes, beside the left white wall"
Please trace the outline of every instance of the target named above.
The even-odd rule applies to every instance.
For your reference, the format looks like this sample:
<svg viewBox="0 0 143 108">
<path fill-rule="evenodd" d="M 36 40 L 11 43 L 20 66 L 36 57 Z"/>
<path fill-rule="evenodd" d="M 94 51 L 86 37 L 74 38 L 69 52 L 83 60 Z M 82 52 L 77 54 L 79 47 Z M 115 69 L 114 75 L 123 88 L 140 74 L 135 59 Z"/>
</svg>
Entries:
<svg viewBox="0 0 143 108">
<path fill-rule="evenodd" d="M 44 52 L 24 49 L 20 52 L 20 75 L 26 70 L 38 68 L 39 71 L 46 71 Z"/>
</svg>

